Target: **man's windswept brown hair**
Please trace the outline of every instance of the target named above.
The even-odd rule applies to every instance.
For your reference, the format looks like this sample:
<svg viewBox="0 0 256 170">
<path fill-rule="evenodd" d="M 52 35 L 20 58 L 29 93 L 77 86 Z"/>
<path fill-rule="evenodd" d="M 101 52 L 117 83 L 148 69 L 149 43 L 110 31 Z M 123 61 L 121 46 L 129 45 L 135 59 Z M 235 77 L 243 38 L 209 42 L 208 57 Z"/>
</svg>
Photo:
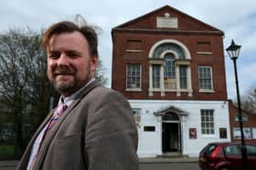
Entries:
<svg viewBox="0 0 256 170">
<path fill-rule="evenodd" d="M 51 25 L 43 36 L 43 45 L 45 50 L 48 49 L 49 40 L 52 35 L 60 35 L 63 33 L 73 33 L 75 31 L 84 35 L 89 44 L 89 50 L 91 55 L 98 56 L 98 38 L 95 29 L 90 25 L 78 26 L 69 21 L 62 21 Z"/>
</svg>

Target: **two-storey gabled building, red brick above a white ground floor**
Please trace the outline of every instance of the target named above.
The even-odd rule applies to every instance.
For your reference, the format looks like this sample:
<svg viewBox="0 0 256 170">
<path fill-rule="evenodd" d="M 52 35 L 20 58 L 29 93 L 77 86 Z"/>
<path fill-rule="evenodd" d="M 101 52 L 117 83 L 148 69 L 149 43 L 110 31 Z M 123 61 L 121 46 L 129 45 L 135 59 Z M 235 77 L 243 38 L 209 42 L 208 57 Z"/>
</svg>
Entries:
<svg viewBox="0 0 256 170">
<path fill-rule="evenodd" d="M 133 107 L 139 156 L 230 141 L 223 35 L 169 5 L 112 29 L 112 88 Z"/>
</svg>

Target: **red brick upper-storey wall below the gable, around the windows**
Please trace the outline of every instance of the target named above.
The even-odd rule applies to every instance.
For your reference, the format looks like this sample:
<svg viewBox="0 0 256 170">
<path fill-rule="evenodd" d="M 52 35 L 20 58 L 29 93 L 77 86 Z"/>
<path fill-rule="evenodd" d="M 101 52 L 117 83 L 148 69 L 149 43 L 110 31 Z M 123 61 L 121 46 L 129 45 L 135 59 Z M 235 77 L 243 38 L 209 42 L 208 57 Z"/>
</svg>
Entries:
<svg viewBox="0 0 256 170">
<path fill-rule="evenodd" d="M 188 97 L 187 94 L 176 96 L 176 93 L 168 93 L 160 96 L 155 93 L 154 96 L 148 95 L 149 89 L 149 51 L 155 43 L 170 39 L 181 42 L 186 45 L 191 55 L 191 77 L 193 96 Z M 142 41 L 142 52 L 127 52 L 126 44 L 128 40 Z M 222 37 L 216 35 L 148 35 L 144 33 L 115 33 L 113 38 L 114 50 L 112 62 L 112 88 L 121 92 L 130 99 L 194 99 L 194 100 L 225 100 L 227 99 L 225 63 L 223 55 Z M 211 45 L 211 55 L 198 54 L 197 43 L 208 42 Z M 142 65 L 142 91 L 131 92 L 126 91 L 126 65 L 140 64 Z M 213 87 L 214 93 L 198 92 L 198 65 L 211 65 L 213 71 Z"/>
</svg>

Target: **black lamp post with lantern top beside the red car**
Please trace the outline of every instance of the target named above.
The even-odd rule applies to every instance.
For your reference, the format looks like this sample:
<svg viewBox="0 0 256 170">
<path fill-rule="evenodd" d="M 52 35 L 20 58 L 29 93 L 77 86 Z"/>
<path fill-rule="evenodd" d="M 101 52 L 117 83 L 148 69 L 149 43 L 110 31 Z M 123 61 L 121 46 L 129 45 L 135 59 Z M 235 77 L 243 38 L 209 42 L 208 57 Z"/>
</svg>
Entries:
<svg viewBox="0 0 256 170">
<path fill-rule="evenodd" d="M 229 45 L 229 47 L 226 49 L 226 51 L 228 52 L 230 59 L 233 60 L 233 63 L 234 63 L 237 98 L 238 98 L 238 106 L 239 106 L 242 167 L 243 167 L 244 170 L 248 170 L 249 167 L 248 167 L 246 146 L 245 146 L 245 142 L 244 142 L 242 115 L 241 115 L 241 110 L 240 110 L 240 89 L 239 89 L 239 80 L 238 80 L 238 73 L 237 73 L 237 59 L 240 55 L 240 46 L 241 45 L 236 45 L 234 40 L 232 40 L 231 45 Z"/>
</svg>

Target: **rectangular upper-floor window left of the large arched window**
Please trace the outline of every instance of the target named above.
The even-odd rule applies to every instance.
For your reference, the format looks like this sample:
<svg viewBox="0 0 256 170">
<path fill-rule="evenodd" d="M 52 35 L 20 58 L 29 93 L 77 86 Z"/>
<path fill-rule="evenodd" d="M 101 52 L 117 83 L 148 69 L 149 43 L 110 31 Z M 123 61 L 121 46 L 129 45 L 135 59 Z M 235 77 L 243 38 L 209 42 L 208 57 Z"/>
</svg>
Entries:
<svg viewBox="0 0 256 170">
<path fill-rule="evenodd" d="M 126 88 L 141 89 L 141 65 L 126 66 Z"/>
</svg>

